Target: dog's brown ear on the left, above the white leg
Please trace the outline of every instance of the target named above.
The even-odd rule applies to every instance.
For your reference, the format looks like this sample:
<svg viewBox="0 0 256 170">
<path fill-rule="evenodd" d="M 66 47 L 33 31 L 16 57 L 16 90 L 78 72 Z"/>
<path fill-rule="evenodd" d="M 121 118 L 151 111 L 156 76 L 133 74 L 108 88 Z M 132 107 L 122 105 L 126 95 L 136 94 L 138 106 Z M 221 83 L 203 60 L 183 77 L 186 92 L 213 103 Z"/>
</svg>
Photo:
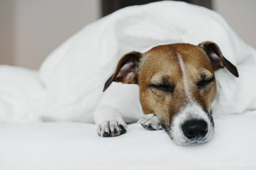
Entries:
<svg viewBox="0 0 256 170">
<path fill-rule="evenodd" d="M 105 91 L 113 81 L 137 84 L 137 69 L 141 53 L 130 52 L 125 54 L 118 62 L 116 70 L 113 75 L 106 81 L 103 91 Z"/>
</svg>

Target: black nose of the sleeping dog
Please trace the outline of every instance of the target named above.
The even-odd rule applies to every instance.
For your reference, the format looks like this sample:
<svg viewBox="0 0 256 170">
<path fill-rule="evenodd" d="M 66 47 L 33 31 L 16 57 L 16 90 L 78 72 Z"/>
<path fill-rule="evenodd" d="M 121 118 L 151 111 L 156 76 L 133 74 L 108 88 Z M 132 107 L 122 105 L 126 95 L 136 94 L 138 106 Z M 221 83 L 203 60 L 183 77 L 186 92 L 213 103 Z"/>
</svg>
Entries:
<svg viewBox="0 0 256 170">
<path fill-rule="evenodd" d="M 182 124 L 181 128 L 188 139 L 203 138 L 208 131 L 208 125 L 204 120 L 187 121 Z"/>
</svg>

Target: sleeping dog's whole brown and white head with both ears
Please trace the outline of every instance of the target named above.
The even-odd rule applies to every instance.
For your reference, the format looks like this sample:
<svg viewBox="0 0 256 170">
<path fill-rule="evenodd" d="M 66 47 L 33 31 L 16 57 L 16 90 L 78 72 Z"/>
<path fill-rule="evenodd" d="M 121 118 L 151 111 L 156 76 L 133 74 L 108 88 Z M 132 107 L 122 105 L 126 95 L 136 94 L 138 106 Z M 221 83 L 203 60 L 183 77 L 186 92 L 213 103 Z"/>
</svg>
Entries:
<svg viewBox="0 0 256 170">
<path fill-rule="evenodd" d="M 138 84 L 143 112 L 156 114 L 175 143 L 202 143 L 213 135 L 214 71 L 223 67 L 238 77 L 236 67 L 210 41 L 161 45 L 125 54 L 104 90 L 113 81 Z"/>
</svg>

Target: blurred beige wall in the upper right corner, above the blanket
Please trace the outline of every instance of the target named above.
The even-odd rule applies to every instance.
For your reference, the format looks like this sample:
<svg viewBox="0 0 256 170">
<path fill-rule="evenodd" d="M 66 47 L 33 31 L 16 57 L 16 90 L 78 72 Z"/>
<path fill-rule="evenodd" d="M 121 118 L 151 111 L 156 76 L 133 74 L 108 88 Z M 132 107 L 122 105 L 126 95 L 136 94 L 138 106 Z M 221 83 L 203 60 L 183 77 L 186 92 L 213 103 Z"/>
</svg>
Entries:
<svg viewBox="0 0 256 170">
<path fill-rule="evenodd" d="M 256 48 L 255 0 L 213 0 L 212 5 L 245 43 Z"/>
</svg>

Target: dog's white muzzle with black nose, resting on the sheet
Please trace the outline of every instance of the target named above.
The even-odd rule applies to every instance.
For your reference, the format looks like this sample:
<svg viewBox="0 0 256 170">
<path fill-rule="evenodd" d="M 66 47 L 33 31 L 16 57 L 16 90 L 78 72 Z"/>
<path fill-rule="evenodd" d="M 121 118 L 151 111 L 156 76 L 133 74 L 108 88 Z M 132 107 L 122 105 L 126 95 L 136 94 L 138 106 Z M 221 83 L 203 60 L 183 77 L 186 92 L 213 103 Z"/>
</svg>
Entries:
<svg viewBox="0 0 256 170">
<path fill-rule="evenodd" d="M 207 142 L 214 133 L 212 116 L 199 105 L 187 105 L 173 117 L 167 133 L 178 145 Z"/>
</svg>

